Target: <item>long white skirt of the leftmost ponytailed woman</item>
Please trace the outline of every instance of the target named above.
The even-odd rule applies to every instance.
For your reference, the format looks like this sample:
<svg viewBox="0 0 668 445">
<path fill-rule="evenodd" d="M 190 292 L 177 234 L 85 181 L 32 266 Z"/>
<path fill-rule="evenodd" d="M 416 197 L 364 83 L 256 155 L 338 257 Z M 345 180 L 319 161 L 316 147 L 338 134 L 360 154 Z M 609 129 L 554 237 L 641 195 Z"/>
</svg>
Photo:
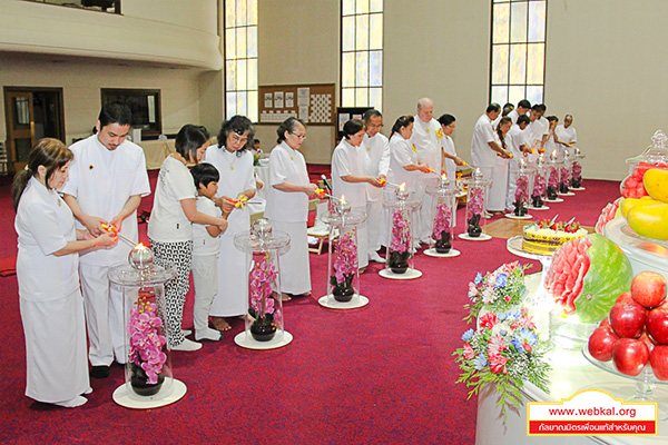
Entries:
<svg viewBox="0 0 668 445">
<path fill-rule="evenodd" d="M 90 387 L 81 291 L 49 301 L 20 298 L 26 335 L 26 395 L 65 402 Z"/>
</svg>

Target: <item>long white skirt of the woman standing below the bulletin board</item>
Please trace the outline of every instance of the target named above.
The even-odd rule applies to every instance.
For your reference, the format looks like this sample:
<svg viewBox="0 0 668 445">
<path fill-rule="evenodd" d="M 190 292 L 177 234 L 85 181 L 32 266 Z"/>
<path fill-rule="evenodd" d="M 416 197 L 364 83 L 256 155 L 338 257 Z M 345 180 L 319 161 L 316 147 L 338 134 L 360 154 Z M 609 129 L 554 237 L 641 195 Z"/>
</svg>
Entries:
<svg viewBox="0 0 668 445">
<path fill-rule="evenodd" d="M 281 291 L 294 295 L 311 291 L 306 221 L 286 222 L 271 219 L 269 222 L 272 222 L 274 229 L 289 235 L 289 250 L 278 259 L 281 265 Z"/>
</svg>

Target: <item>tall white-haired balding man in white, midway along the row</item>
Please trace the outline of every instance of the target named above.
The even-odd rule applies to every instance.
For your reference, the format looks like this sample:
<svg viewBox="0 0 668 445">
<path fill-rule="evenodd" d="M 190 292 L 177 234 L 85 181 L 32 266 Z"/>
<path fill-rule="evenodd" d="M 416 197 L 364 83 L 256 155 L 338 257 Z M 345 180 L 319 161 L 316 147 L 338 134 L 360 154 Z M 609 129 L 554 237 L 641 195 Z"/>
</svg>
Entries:
<svg viewBox="0 0 668 445">
<path fill-rule="evenodd" d="M 435 185 L 444 171 L 441 167 L 441 126 L 433 118 L 434 103 L 430 98 L 418 101 L 418 118 L 413 123 L 412 142 L 418 150 L 418 159 L 432 170 L 431 175 L 420 175 L 415 184 L 415 197 L 422 206 L 415 211 L 415 239 L 429 244 L 432 233 L 432 199 L 425 190 L 429 185 Z"/>
</svg>

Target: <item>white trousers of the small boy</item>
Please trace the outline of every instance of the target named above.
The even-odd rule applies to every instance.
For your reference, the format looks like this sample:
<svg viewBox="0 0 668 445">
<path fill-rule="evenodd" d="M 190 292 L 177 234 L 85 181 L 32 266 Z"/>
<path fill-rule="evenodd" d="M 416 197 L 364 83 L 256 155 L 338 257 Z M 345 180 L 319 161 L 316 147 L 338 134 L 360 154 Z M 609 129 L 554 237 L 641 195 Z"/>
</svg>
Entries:
<svg viewBox="0 0 668 445">
<path fill-rule="evenodd" d="M 212 304 L 218 294 L 218 257 L 217 255 L 193 255 L 190 268 L 195 287 L 193 325 L 195 330 L 204 330 L 208 328 Z"/>
</svg>

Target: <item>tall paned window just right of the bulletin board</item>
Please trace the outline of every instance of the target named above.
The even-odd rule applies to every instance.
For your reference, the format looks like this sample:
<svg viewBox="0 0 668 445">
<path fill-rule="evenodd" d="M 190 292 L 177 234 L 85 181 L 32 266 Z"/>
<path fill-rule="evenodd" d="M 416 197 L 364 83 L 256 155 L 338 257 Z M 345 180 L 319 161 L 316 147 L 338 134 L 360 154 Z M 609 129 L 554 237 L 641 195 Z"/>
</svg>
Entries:
<svg viewBox="0 0 668 445">
<path fill-rule="evenodd" d="M 383 106 L 383 0 L 341 2 L 341 106 Z"/>
</svg>

